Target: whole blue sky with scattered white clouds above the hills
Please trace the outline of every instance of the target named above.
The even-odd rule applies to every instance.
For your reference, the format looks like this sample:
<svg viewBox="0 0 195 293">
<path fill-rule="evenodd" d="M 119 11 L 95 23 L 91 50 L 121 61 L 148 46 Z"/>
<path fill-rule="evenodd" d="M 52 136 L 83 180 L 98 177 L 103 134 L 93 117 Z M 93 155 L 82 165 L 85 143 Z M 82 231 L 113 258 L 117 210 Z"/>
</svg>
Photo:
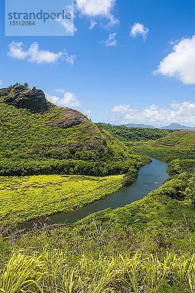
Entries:
<svg viewBox="0 0 195 293">
<path fill-rule="evenodd" d="M 36 85 L 94 122 L 195 126 L 195 1 L 97 2 L 75 2 L 67 37 L 5 37 L 2 9 L 1 87 Z"/>
</svg>

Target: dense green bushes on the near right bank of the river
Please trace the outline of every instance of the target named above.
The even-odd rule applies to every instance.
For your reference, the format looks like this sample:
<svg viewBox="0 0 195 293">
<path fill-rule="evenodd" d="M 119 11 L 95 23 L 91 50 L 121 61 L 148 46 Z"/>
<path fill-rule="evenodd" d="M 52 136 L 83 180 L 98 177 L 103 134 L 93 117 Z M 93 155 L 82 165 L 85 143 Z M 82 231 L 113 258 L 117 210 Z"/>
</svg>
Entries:
<svg viewBox="0 0 195 293">
<path fill-rule="evenodd" d="M 177 176 L 177 178 L 165 182 L 162 187 L 151 191 L 144 199 L 127 205 L 124 208 L 97 212 L 94 214 L 94 218 L 97 223 L 101 223 L 103 228 L 106 227 L 108 222 L 113 221 L 114 230 L 122 234 L 123 232 L 125 233 L 124 227 L 132 224 L 133 229 L 140 231 L 150 228 L 151 230 L 157 229 L 161 231 L 171 229 L 173 232 L 173 227 L 177 227 L 181 222 L 184 223 L 185 218 L 187 218 L 188 221 L 190 219 L 191 229 L 194 232 L 195 210 L 192 205 L 186 205 L 181 201 L 181 199 L 184 200 L 190 193 L 193 193 L 194 189 L 194 176 L 184 172 Z M 177 199 L 180 200 L 178 201 Z M 89 225 L 88 221 L 89 218 L 86 219 L 86 225 Z M 177 241 L 175 246 L 185 250 L 181 245 L 182 237 L 179 244 L 178 239 L 174 239 L 175 236 L 176 234 L 173 233 L 172 241 Z M 165 235 L 167 241 L 170 237 L 172 237 L 170 234 Z M 179 247 L 180 245 L 181 247 Z"/>
</svg>

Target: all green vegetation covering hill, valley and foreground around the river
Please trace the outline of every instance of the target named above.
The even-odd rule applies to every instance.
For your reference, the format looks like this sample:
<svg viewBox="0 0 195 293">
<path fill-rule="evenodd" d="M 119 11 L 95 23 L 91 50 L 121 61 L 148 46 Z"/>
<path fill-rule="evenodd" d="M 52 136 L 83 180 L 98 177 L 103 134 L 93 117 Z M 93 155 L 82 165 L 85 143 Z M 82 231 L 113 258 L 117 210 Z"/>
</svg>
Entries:
<svg viewBox="0 0 195 293">
<path fill-rule="evenodd" d="M 5 105 L 13 88 L 0 92 L 0 292 L 194 293 L 195 132 L 85 116 L 63 127 L 60 107 Z M 42 229 L 15 227 L 104 198 L 133 182 L 147 155 L 171 177 L 144 199 L 60 229 L 49 217 Z"/>
</svg>

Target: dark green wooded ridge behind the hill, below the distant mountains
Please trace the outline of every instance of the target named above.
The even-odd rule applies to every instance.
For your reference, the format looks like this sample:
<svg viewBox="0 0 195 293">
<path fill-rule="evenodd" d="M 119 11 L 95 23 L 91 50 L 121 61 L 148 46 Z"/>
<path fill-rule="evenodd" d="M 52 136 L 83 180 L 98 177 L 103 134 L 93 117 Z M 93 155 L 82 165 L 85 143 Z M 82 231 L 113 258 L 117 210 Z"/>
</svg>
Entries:
<svg viewBox="0 0 195 293">
<path fill-rule="evenodd" d="M 143 128 L 143 127 L 127 127 L 123 126 L 112 126 L 111 124 L 96 124 L 99 129 L 105 129 L 117 139 L 124 142 L 129 141 L 148 141 L 156 140 L 161 137 L 167 136 L 172 133 L 172 129 L 159 129 L 159 128 Z"/>
</svg>

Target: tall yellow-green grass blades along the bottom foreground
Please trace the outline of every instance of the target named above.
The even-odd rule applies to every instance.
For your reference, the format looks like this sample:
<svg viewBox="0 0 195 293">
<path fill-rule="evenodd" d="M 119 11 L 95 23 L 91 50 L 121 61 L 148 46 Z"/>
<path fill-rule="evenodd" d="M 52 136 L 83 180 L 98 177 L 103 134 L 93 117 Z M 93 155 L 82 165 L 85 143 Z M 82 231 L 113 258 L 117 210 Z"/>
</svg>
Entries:
<svg viewBox="0 0 195 293">
<path fill-rule="evenodd" d="M 176 291 L 172 291 L 172 288 Z M 0 272 L 2 293 L 157 293 L 195 292 L 195 255 L 97 259 L 83 255 L 70 263 L 66 251 L 33 256 L 14 253 Z"/>
</svg>

